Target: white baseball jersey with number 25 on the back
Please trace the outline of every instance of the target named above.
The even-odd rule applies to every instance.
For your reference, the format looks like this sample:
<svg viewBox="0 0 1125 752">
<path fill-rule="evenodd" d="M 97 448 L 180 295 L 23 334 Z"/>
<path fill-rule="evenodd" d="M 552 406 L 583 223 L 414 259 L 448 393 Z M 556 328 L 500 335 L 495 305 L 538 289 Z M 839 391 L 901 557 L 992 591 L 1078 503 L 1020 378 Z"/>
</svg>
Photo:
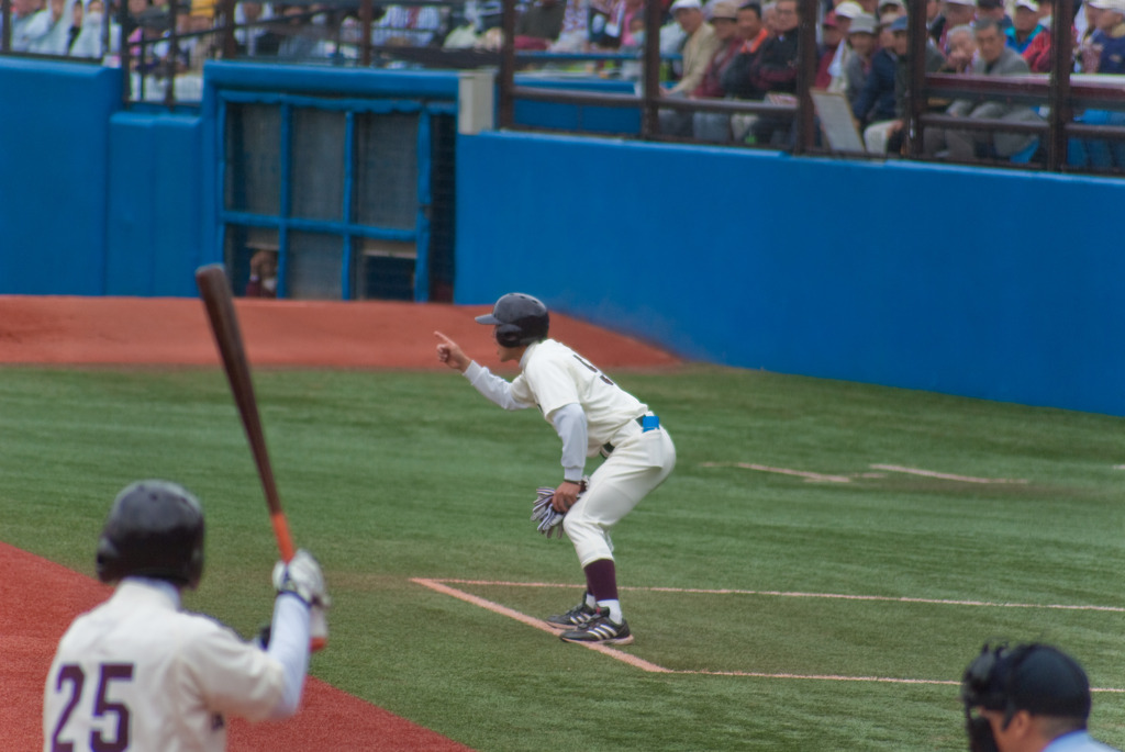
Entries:
<svg viewBox="0 0 1125 752">
<path fill-rule="evenodd" d="M 126 579 L 74 619 L 47 674 L 44 752 L 224 750 L 224 716 L 260 721 L 276 710 L 282 662 L 179 606 L 171 585 Z"/>
</svg>

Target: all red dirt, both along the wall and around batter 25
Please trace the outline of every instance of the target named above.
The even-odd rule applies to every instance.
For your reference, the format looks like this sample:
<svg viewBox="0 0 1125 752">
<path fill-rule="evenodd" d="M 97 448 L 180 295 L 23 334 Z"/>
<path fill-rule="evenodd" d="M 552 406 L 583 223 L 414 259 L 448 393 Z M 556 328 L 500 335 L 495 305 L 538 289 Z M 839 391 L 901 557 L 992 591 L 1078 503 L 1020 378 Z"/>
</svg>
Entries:
<svg viewBox="0 0 1125 752">
<path fill-rule="evenodd" d="M 487 306 L 237 300 L 251 366 L 443 369 L 434 330 L 496 365 Z M 675 356 L 628 337 L 551 317 L 551 336 L 604 369 L 662 368 Z M 219 357 L 202 303 L 190 298 L 0 296 L 0 364 L 215 365 Z M 0 543 L 0 728 L 4 749 L 42 749 L 43 687 L 58 638 L 109 588 Z M 228 749 L 242 752 L 468 748 L 309 678 L 300 712 L 282 723 L 233 722 Z"/>
</svg>

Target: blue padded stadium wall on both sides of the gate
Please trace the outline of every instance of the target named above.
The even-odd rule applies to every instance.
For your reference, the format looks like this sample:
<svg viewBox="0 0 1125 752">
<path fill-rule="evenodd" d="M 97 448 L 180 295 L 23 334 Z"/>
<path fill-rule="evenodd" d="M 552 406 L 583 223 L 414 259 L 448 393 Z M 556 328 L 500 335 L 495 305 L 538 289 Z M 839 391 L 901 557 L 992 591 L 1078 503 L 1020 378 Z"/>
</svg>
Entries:
<svg viewBox="0 0 1125 752">
<path fill-rule="evenodd" d="M 456 90 L 205 78 L 198 114 L 124 110 L 116 70 L 0 57 L 0 295 L 195 296 L 220 257 L 215 87 Z M 454 295 L 523 290 L 694 360 L 1125 415 L 1122 206 L 1125 180 L 486 132 L 457 141 Z"/>
</svg>

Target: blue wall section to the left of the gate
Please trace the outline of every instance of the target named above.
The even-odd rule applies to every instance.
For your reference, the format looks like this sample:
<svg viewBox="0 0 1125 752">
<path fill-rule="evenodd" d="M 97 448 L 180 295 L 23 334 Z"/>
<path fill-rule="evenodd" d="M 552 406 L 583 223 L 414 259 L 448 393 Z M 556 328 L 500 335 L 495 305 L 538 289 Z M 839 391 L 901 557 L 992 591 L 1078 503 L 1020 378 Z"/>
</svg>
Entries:
<svg viewBox="0 0 1125 752">
<path fill-rule="evenodd" d="M 196 295 L 198 116 L 123 110 L 116 69 L 16 57 L 0 102 L 0 295 Z"/>
</svg>

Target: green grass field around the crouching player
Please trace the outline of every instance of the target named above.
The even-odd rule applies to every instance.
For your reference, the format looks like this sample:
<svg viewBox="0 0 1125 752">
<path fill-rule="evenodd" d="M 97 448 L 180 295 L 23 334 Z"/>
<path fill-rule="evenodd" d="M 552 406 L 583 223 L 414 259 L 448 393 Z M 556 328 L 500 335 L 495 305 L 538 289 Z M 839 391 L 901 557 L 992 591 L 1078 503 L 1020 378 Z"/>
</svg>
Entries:
<svg viewBox="0 0 1125 752">
<path fill-rule="evenodd" d="M 573 549 L 528 519 L 560 477 L 537 413 L 451 373 L 256 372 L 290 526 L 335 601 L 313 673 L 489 751 L 963 750 L 955 686 L 738 674 L 954 681 L 997 638 L 1059 644 L 1125 688 L 1120 419 L 706 366 L 613 375 L 678 450 L 614 531 L 623 652 L 664 673 L 411 581 L 574 583 L 454 585 L 532 616 L 577 601 Z M 246 635 L 268 618 L 276 545 L 217 369 L 3 369 L 0 447 L 4 542 L 92 573 L 115 493 L 178 480 L 208 515 L 188 607 Z M 768 595 L 794 592 L 811 595 Z M 1095 696 L 1091 730 L 1125 745 L 1125 694 Z"/>
</svg>

